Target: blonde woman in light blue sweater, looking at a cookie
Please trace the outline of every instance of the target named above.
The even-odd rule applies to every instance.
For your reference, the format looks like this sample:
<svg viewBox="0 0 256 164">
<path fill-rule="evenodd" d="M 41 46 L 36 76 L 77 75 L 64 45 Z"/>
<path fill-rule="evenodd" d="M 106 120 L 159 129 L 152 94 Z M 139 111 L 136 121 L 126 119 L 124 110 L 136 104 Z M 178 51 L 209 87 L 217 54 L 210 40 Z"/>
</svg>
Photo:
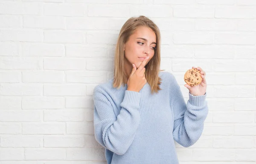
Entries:
<svg viewBox="0 0 256 164">
<path fill-rule="evenodd" d="M 114 76 L 93 90 L 95 139 L 108 164 L 178 164 L 175 142 L 183 147 L 201 136 L 207 117 L 203 81 L 189 86 L 184 101 L 175 77 L 160 72 L 160 31 L 147 17 L 122 26 Z"/>
</svg>

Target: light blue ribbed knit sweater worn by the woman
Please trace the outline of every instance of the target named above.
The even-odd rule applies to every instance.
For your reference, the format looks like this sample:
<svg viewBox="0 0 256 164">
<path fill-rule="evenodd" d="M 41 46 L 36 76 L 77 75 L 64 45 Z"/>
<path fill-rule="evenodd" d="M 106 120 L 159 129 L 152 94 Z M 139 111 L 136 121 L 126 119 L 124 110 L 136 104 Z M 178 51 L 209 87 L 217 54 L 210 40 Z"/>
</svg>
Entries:
<svg viewBox="0 0 256 164">
<path fill-rule="evenodd" d="M 159 93 L 146 83 L 140 92 L 113 88 L 113 78 L 93 90 L 95 139 L 108 164 L 178 164 L 174 140 L 183 147 L 201 136 L 206 96 L 189 93 L 186 104 L 175 76 L 160 72 Z"/>
</svg>

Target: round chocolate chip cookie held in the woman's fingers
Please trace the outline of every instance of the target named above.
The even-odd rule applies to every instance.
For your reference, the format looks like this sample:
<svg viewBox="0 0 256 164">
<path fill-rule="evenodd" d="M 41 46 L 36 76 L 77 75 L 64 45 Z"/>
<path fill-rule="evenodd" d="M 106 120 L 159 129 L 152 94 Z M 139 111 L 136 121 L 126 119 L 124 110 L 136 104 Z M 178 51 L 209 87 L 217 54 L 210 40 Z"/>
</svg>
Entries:
<svg viewBox="0 0 256 164">
<path fill-rule="evenodd" d="M 184 76 L 184 81 L 190 86 L 195 86 L 200 84 L 202 82 L 200 71 L 197 70 L 196 68 L 186 71 Z"/>
</svg>

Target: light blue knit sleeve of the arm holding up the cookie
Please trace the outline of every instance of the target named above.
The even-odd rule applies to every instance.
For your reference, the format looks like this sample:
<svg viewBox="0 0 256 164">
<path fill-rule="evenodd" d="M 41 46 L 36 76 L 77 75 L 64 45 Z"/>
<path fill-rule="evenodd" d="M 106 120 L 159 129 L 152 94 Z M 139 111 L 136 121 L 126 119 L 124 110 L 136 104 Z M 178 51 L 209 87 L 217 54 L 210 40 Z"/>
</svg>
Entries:
<svg viewBox="0 0 256 164">
<path fill-rule="evenodd" d="M 174 129 L 172 133 L 178 144 L 189 147 L 198 141 L 204 129 L 204 121 L 208 114 L 205 100 L 207 93 L 202 96 L 193 96 L 189 93 L 189 100 L 186 104 L 176 79 L 174 85 L 175 98 L 172 103 Z"/>
</svg>

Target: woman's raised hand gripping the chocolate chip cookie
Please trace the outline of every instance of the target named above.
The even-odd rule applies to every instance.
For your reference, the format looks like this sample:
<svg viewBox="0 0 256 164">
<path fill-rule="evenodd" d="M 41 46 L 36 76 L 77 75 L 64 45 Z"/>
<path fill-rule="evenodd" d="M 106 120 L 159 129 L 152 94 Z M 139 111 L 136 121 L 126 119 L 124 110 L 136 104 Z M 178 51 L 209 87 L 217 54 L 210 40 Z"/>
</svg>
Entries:
<svg viewBox="0 0 256 164">
<path fill-rule="evenodd" d="M 195 67 L 192 67 L 192 68 L 194 69 Z M 195 86 L 190 86 L 188 84 L 185 84 L 184 86 L 189 89 L 189 93 L 192 94 L 193 96 L 201 96 L 206 93 L 206 88 L 207 88 L 206 79 L 205 79 L 206 72 L 203 71 L 202 68 L 200 67 L 197 67 L 196 69 L 199 70 L 201 73 L 202 82 Z"/>
</svg>

